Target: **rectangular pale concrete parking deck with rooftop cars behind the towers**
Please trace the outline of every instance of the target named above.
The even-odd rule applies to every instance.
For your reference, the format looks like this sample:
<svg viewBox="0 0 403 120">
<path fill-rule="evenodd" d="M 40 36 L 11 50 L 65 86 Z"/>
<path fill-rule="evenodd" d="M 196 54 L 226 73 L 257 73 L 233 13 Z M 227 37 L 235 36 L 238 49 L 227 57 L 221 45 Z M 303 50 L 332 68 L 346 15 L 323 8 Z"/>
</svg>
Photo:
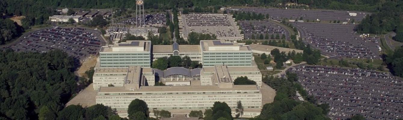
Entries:
<svg viewBox="0 0 403 120">
<path fill-rule="evenodd" d="M 216 35 L 217 39 L 243 39 L 229 14 L 182 14 L 184 39 L 189 33 Z"/>
</svg>

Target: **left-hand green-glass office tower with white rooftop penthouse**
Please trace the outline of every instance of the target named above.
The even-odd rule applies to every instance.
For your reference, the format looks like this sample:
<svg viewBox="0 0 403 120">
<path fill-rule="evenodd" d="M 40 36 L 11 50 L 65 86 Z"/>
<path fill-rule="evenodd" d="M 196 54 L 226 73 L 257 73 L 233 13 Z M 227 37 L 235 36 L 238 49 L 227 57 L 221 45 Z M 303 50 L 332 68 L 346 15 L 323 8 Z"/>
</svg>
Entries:
<svg viewBox="0 0 403 120">
<path fill-rule="evenodd" d="M 126 41 L 102 47 L 97 67 L 150 67 L 151 41 Z"/>
</svg>

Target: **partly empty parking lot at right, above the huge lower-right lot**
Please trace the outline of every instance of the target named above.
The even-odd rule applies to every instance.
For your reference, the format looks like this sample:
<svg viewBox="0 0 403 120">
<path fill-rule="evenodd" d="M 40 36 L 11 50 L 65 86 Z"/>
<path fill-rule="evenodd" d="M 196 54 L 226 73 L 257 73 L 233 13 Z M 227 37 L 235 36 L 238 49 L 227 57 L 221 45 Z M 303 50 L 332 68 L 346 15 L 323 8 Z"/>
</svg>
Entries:
<svg viewBox="0 0 403 120">
<path fill-rule="evenodd" d="M 368 42 L 353 31 L 353 24 L 291 22 L 301 37 L 331 55 L 349 58 L 380 58 L 378 42 Z"/>
</svg>

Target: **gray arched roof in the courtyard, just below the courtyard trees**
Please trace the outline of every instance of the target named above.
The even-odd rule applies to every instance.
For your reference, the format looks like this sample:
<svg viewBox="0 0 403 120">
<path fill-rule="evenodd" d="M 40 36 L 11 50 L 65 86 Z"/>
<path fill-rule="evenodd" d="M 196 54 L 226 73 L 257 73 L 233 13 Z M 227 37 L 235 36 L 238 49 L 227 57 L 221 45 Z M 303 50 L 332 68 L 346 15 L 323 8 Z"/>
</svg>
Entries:
<svg viewBox="0 0 403 120">
<path fill-rule="evenodd" d="M 171 67 L 171 68 L 168 68 L 168 69 L 166 69 L 164 71 L 159 70 L 159 69 L 153 69 L 153 70 L 154 70 L 154 74 L 158 75 L 160 77 L 167 77 L 169 75 L 176 75 L 176 74 L 186 75 L 188 77 L 193 77 L 195 75 L 200 75 L 200 71 L 202 71 L 201 68 L 196 68 L 196 69 L 189 70 L 189 69 L 186 69 L 184 67 Z"/>
</svg>

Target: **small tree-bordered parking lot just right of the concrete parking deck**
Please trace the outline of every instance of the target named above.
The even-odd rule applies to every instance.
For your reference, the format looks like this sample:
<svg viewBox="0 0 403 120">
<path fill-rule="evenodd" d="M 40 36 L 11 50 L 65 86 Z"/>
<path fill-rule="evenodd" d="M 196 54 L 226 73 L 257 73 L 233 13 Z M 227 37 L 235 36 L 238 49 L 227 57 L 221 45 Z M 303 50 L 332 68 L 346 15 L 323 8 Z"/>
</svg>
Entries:
<svg viewBox="0 0 403 120">
<path fill-rule="evenodd" d="M 285 35 L 286 39 L 289 40 L 289 31 L 286 31 L 285 28 L 282 28 L 277 24 L 271 23 L 269 20 L 242 20 L 238 21 L 238 23 L 242 28 L 245 39 L 251 39 L 252 34 L 256 34 L 256 38 L 259 38 L 260 34 L 263 34 L 263 36 L 268 34 L 269 37 L 271 35 L 279 34 L 280 37 Z"/>
</svg>

